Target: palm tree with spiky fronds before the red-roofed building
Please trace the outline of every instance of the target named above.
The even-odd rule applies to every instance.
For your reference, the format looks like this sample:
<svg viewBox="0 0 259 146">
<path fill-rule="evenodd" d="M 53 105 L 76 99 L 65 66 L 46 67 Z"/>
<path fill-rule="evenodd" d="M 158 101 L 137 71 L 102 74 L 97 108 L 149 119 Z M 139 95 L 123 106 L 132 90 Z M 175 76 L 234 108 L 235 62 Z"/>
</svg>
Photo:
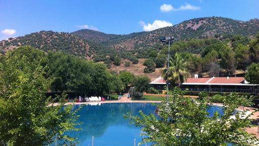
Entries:
<svg viewBox="0 0 259 146">
<path fill-rule="evenodd" d="M 163 77 L 166 81 L 171 84 L 177 84 L 179 87 L 181 83 L 187 80 L 189 76 L 188 69 L 186 68 L 187 62 L 176 53 L 173 58 L 169 61 L 169 70 L 163 70 Z"/>
</svg>

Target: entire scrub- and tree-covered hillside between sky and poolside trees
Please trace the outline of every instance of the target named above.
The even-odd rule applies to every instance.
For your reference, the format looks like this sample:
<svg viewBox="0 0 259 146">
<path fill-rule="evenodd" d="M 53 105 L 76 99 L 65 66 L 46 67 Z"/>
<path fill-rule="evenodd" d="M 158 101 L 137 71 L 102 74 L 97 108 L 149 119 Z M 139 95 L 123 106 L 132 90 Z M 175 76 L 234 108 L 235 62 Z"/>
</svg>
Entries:
<svg viewBox="0 0 259 146">
<path fill-rule="evenodd" d="M 48 52 L 64 51 L 94 62 L 103 62 L 119 72 L 159 75 L 164 67 L 168 45 L 159 42 L 161 36 L 174 36 L 171 45 L 186 60 L 190 73 L 201 76 L 234 76 L 248 65 L 259 61 L 259 20 L 239 21 L 222 17 L 195 18 L 151 32 L 112 35 L 98 31 L 79 30 L 73 33 L 41 31 L 0 42 L 5 54 L 18 46 L 30 45 Z M 1 54 L 0 53 L 0 54 Z M 145 61 L 146 60 L 146 61 Z"/>
</svg>

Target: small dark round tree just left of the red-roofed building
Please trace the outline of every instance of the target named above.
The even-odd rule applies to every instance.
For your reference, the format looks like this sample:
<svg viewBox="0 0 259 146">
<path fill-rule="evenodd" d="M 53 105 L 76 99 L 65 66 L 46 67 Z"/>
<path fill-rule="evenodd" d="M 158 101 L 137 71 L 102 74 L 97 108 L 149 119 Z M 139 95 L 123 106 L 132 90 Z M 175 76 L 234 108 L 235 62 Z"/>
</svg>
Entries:
<svg viewBox="0 0 259 146">
<path fill-rule="evenodd" d="M 137 92 L 143 93 L 150 87 L 150 79 L 147 76 L 138 76 L 134 81 L 134 87 Z"/>
</svg>

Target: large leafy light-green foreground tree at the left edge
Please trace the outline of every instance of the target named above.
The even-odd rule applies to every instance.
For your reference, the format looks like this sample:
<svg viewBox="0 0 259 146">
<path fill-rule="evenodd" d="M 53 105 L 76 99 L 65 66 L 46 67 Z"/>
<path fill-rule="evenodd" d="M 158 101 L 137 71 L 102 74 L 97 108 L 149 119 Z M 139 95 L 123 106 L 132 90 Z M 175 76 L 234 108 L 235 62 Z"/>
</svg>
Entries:
<svg viewBox="0 0 259 146">
<path fill-rule="evenodd" d="M 74 138 L 64 132 L 78 130 L 77 110 L 64 106 L 64 96 L 54 99 L 59 102 L 56 106 L 46 97 L 52 79 L 46 78 L 42 55 L 35 48 L 22 47 L 0 63 L 1 145 L 47 145 L 55 140 L 74 145 Z"/>
</svg>

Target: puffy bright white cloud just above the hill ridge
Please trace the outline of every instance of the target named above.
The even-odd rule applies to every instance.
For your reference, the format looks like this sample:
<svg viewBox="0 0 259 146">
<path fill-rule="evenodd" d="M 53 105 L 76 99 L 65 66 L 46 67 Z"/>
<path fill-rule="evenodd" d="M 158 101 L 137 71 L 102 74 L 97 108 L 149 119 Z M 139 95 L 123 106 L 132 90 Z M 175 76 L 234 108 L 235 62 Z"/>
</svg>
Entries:
<svg viewBox="0 0 259 146">
<path fill-rule="evenodd" d="M 154 20 L 154 22 L 152 24 L 150 24 L 150 23 L 146 24 L 144 21 L 140 21 L 139 23 L 143 27 L 143 31 L 145 31 L 145 32 L 153 31 L 158 28 L 162 28 L 162 27 L 166 27 L 166 26 L 173 26 L 172 23 L 165 21 L 165 20 Z"/>
</svg>

